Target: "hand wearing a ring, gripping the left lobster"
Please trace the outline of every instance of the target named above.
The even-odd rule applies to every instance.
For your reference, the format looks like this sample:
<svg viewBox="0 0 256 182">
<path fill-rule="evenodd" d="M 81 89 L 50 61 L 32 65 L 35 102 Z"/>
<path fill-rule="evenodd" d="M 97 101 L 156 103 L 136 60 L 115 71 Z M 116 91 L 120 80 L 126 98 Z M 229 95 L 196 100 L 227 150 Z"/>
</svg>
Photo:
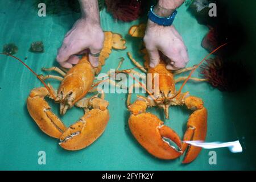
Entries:
<svg viewBox="0 0 256 182">
<path fill-rule="evenodd" d="M 98 56 L 104 43 L 104 32 L 100 23 L 81 18 L 65 35 L 63 44 L 58 51 L 57 61 L 64 68 L 72 68 L 72 64 L 79 62 L 79 57 L 89 49 L 89 61 L 93 67 L 98 67 Z"/>
</svg>

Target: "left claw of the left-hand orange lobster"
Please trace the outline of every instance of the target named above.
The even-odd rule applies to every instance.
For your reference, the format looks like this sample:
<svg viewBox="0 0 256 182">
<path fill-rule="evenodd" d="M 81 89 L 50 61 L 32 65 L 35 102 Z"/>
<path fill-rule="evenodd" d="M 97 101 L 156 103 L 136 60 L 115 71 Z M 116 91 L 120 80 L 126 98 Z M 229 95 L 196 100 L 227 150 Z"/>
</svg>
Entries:
<svg viewBox="0 0 256 182">
<path fill-rule="evenodd" d="M 27 109 L 40 129 L 53 138 L 59 138 L 67 128 L 60 119 L 52 113 L 44 97 L 49 96 L 46 88 L 35 88 L 31 90 L 27 98 Z"/>
</svg>

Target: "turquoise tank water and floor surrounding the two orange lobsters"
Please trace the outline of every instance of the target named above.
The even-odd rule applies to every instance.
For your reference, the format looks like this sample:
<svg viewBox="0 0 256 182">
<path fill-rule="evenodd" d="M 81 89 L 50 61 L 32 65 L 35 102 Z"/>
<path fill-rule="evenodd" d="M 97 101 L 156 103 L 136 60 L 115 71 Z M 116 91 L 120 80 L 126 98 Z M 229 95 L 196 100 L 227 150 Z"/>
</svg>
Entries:
<svg viewBox="0 0 256 182">
<path fill-rule="evenodd" d="M 42 67 L 57 65 L 55 57 L 57 48 L 65 33 L 79 14 L 47 15 L 39 17 L 32 3 L 24 1 L 0 1 L 0 47 L 6 43 L 15 43 L 19 47 L 15 56 L 23 59 L 36 73 L 43 73 Z M 201 48 L 201 40 L 208 28 L 197 23 L 181 6 L 174 25 L 183 36 L 188 47 L 188 67 L 199 63 L 207 51 Z M 133 52 L 135 59 L 143 63 L 138 49 L 140 39 L 130 38 L 127 31 L 130 26 L 143 20 L 122 23 L 112 19 L 105 9 L 101 11 L 102 28 L 106 31 L 118 32 L 126 40 L 125 51 L 113 51 L 101 72 L 107 72 L 118 65 L 119 57 L 124 57 L 123 69 L 133 68 L 126 52 Z M 45 51 L 35 54 L 28 51 L 30 44 L 43 41 Z M 243 152 L 231 153 L 228 148 L 214 149 L 217 153 L 217 164 L 209 164 L 209 151 L 202 150 L 191 164 L 181 164 L 183 156 L 176 160 L 159 160 L 149 155 L 133 138 L 127 127 L 129 113 L 125 101 L 126 94 L 106 94 L 109 101 L 110 121 L 105 133 L 91 146 L 80 151 L 65 151 L 58 140 L 42 133 L 32 120 L 26 108 L 26 98 L 32 88 L 42 86 L 37 78 L 11 57 L 0 56 L 0 169 L 34 169 L 34 170 L 222 170 L 222 169 L 255 169 L 255 107 L 248 107 L 251 99 L 241 100 L 242 93 L 221 93 L 207 83 L 189 82 L 183 91 L 201 97 L 208 109 L 207 141 L 229 142 L 240 139 Z M 185 76 L 184 73 L 181 76 Z M 199 72 L 193 76 L 199 76 Z M 59 82 L 50 81 L 57 88 Z M 180 84 L 177 84 L 179 87 Z M 249 94 L 255 94 L 251 91 Z M 238 100 L 238 96 L 241 96 Z M 255 101 L 255 100 L 252 100 Z M 55 113 L 59 106 L 50 102 Z M 255 106 L 255 105 L 253 105 Z M 254 108 L 254 109 L 253 109 Z M 150 109 L 158 115 L 162 110 Z M 81 109 L 73 108 L 60 116 L 67 126 L 77 121 L 83 114 Z M 180 137 L 185 131 L 185 124 L 190 112 L 184 107 L 171 107 L 170 120 L 165 124 L 172 127 Z M 251 119 L 251 120 L 250 120 Z M 38 152 L 46 152 L 46 165 L 38 164 Z"/>
</svg>

